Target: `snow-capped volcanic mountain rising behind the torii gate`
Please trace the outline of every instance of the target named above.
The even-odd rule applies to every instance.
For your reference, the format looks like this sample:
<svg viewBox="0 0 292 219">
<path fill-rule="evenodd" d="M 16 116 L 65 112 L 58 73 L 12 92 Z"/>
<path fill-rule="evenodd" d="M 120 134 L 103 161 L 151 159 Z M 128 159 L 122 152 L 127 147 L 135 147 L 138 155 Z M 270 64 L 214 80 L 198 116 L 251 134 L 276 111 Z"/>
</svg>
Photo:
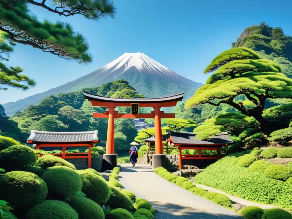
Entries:
<svg viewBox="0 0 292 219">
<path fill-rule="evenodd" d="M 96 87 L 109 81 L 125 79 L 145 97 L 159 97 L 185 92 L 184 100 L 190 98 L 202 84 L 187 79 L 144 53 L 124 53 L 107 65 L 67 84 L 44 93 L 3 104 L 6 114 L 12 115 L 29 105 L 37 105 L 41 99 L 57 93 L 67 93 L 85 87 Z"/>
</svg>

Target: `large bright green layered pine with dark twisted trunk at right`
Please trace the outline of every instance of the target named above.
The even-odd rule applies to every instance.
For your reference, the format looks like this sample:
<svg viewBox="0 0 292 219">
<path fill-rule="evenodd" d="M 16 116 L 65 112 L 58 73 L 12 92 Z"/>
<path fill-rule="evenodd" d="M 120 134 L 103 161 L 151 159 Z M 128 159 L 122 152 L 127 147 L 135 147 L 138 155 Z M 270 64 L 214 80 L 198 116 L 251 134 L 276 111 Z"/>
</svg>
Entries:
<svg viewBox="0 0 292 219">
<path fill-rule="evenodd" d="M 281 73 L 279 65 L 260 59 L 247 48 L 233 48 L 218 55 L 205 72 L 215 69 L 217 72 L 187 100 L 186 108 L 225 103 L 248 117 L 254 117 L 267 134 L 277 128 L 262 114 L 268 98 L 292 98 L 292 79 Z"/>
</svg>

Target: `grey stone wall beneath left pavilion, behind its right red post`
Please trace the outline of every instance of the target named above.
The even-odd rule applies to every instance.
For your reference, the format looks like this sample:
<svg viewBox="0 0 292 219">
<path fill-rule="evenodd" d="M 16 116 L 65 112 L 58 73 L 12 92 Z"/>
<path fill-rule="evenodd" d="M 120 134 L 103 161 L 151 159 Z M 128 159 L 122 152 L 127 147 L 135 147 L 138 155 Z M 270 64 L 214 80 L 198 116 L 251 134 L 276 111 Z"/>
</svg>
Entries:
<svg viewBox="0 0 292 219">
<path fill-rule="evenodd" d="M 72 158 L 66 159 L 66 161 L 73 164 L 77 170 L 84 170 L 88 168 L 88 159 L 87 158 Z M 102 164 L 102 155 L 91 155 L 91 168 L 95 169 L 96 171 L 101 171 L 101 164 Z"/>
</svg>

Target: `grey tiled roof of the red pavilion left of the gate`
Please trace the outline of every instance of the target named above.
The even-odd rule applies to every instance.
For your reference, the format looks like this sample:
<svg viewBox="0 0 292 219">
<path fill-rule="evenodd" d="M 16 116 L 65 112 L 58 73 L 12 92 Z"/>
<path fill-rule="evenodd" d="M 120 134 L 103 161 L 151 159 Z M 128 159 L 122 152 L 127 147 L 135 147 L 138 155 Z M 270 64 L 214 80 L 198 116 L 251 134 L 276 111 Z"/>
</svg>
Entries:
<svg viewBox="0 0 292 219">
<path fill-rule="evenodd" d="M 98 140 L 98 131 L 88 132 L 45 132 L 32 130 L 27 141 L 34 142 L 93 142 Z"/>
</svg>

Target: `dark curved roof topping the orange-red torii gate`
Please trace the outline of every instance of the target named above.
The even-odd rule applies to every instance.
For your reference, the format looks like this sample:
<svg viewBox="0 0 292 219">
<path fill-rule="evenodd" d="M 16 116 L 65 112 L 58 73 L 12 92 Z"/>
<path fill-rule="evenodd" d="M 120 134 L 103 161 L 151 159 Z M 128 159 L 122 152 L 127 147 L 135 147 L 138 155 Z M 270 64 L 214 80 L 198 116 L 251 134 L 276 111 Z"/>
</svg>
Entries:
<svg viewBox="0 0 292 219">
<path fill-rule="evenodd" d="M 172 102 L 183 100 L 183 95 L 185 92 L 157 98 L 112 98 L 96 95 L 93 93 L 88 93 L 83 91 L 84 98 L 87 100 L 97 100 L 100 102 L 128 102 L 128 103 L 155 103 L 155 102 Z"/>
</svg>

